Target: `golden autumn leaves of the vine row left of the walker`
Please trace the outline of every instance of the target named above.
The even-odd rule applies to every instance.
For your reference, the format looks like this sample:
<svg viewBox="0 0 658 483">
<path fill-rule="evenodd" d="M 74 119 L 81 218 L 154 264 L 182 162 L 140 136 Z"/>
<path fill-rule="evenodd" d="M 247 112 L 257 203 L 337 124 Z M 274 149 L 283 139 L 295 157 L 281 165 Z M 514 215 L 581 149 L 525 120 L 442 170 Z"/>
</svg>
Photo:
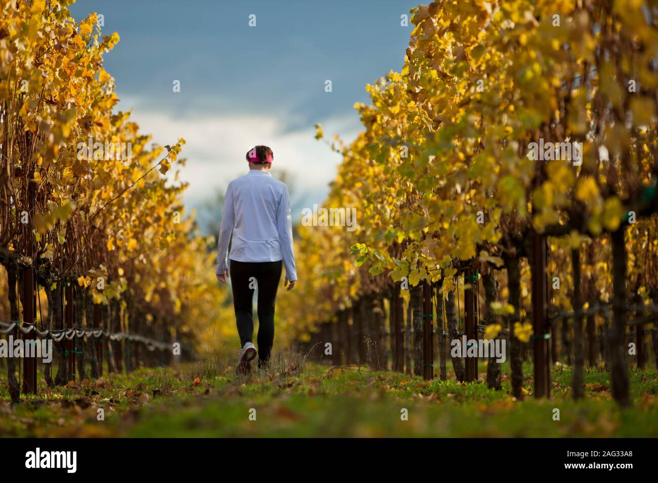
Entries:
<svg viewBox="0 0 658 483">
<path fill-rule="evenodd" d="M 47 298 L 42 327 L 63 327 L 57 308 L 73 286 L 80 310 L 104 308 L 105 329 L 177 340 L 190 354 L 228 320 L 213 240 L 184 211 L 186 185 L 164 176 L 184 165 L 185 141 L 151 145 L 116 109 L 103 55 L 119 36 L 101 34 L 96 14 L 78 24 L 70 3 L 0 1 L 3 321 L 18 318 L 16 277 L 31 270 Z M 90 327 L 90 314 L 80 323 Z"/>
</svg>

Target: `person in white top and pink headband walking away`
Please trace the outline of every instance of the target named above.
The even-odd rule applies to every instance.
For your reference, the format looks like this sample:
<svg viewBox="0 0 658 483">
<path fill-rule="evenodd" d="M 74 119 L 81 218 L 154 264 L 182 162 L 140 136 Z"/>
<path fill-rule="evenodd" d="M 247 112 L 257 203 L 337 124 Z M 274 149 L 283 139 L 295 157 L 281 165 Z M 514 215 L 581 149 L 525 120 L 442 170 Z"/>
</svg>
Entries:
<svg viewBox="0 0 658 483">
<path fill-rule="evenodd" d="M 224 215 L 217 242 L 217 279 L 231 279 L 236 323 L 240 334 L 238 373 L 251 371 L 256 357 L 253 345 L 253 291 L 258 287 L 258 366 L 270 359 L 274 343 L 274 301 L 286 265 L 288 290 L 295 287 L 295 257 L 292 250 L 292 216 L 286 184 L 270 173 L 274 153 L 257 146 L 245 156 L 249 173 L 228 184 L 224 197 Z M 233 237 L 231 237 L 231 233 Z M 231 239 L 230 262 L 226 252 Z"/>
</svg>

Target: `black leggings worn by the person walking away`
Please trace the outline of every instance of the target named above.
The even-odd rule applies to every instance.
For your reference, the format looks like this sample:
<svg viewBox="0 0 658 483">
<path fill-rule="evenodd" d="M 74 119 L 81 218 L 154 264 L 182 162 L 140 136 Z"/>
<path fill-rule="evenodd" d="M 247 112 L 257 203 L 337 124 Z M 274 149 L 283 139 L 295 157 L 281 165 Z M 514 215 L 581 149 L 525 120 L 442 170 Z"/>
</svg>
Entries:
<svg viewBox="0 0 658 483">
<path fill-rule="evenodd" d="M 233 306 L 240 334 L 240 345 L 253 342 L 253 288 L 258 287 L 258 365 L 270 359 L 274 343 L 274 302 L 281 280 L 282 261 L 236 262 L 230 260 Z M 253 283 L 253 277 L 256 284 Z"/>
</svg>

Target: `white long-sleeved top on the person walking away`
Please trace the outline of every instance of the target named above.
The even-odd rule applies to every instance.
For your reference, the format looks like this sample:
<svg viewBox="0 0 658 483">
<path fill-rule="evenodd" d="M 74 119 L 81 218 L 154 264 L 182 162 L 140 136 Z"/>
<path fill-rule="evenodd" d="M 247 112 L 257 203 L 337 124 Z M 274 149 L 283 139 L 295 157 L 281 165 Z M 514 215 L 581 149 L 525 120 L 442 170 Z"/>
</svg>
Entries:
<svg viewBox="0 0 658 483">
<path fill-rule="evenodd" d="M 216 273 L 228 258 L 238 262 L 284 261 L 286 277 L 297 280 L 292 248 L 292 216 L 286 184 L 268 171 L 250 170 L 228 184 L 217 242 Z"/>
</svg>

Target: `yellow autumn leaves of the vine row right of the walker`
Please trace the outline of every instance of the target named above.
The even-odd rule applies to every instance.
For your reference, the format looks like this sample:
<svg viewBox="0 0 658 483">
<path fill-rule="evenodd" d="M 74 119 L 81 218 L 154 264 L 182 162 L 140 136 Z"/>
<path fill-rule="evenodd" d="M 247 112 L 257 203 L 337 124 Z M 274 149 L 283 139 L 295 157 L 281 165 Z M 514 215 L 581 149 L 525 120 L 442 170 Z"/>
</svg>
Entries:
<svg viewBox="0 0 658 483">
<path fill-rule="evenodd" d="M 298 296 L 318 302 L 299 319 L 335 321 L 401 277 L 437 283 L 447 297 L 467 263 L 480 279 L 496 271 L 493 309 L 515 314 L 513 344 L 528 342 L 528 243 L 538 233 L 549 237 L 547 275 L 561 279 L 553 308 L 615 301 L 613 392 L 626 403 L 622 306 L 658 296 L 658 5 L 436 1 L 412 12 L 401 72 L 367 86 L 357 139 L 331 142 L 343 162 L 324 206 L 356 206 L 359 227 L 302 230 Z M 582 143 L 582 162 L 533 159 L 540 139 Z M 576 288 L 573 250 L 584 254 Z M 520 280 L 501 277 L 512 265 Z"/>
</svg>

